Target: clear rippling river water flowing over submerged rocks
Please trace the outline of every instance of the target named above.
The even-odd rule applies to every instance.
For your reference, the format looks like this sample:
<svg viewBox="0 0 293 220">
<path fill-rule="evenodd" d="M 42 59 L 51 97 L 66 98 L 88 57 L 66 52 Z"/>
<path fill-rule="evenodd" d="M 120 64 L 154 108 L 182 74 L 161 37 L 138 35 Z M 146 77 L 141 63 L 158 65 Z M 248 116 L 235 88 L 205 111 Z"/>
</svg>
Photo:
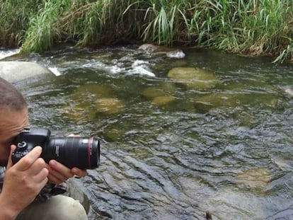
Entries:
<svg viewBox="0 0 293 220">
<path fill-rule="evenodd" d="M 16 83 L 30 125 L 101 139 L 100 167 L 76 180 L 90 219 L 293 219 L 292 64 L 183 52 L 11 59 L 59 73 Z"/>
</svg>

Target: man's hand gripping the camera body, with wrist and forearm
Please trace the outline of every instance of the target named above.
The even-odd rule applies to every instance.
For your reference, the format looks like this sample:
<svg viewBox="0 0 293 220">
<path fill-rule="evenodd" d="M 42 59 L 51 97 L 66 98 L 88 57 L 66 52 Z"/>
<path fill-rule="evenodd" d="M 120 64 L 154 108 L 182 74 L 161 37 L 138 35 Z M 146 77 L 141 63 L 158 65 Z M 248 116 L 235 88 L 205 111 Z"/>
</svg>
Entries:
<svg viewBox="0 0 293 220">
<path fill-rule="evenodd" d="M 16 146 L 11 146 L 11 153 Z M 0 194 L 0 219 L 16 216 L 28 206 L 47 183 L 49 170 L 45 161 L 40 158 L 42 148 L 36 146 L 15 165 L 11 161 L 11 153 L 6 167 L 4 185 Z M 3 216 L 1 216 L 1 214 Z"/>
</svg>

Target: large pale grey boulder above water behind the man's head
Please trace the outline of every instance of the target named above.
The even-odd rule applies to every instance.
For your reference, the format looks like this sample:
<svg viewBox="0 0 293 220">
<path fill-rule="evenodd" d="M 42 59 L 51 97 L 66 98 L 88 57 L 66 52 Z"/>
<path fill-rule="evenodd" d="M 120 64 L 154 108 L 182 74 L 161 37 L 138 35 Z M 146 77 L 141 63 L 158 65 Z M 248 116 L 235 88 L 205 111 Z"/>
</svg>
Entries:
<svg viewBox="0 0 293 220">
<path fill-rule="evenodd" d="M 45 66 L 34 62 L 20 62 L 20 61 L 1 61 L 0 62 L 0 77 L 7 81 L 14 83 L 33 76 L 40 76 L 44 74 L 51 74 L 52 71 Z"/>
</svg>

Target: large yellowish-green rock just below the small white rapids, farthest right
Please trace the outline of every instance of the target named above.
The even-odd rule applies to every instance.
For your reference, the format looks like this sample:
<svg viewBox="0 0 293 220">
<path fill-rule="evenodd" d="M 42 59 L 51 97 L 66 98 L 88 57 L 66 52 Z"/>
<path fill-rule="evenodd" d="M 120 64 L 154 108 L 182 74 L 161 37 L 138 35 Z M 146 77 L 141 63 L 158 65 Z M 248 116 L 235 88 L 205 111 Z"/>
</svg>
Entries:
<svg viewBox="0 0 293 220">
<path fill-rule="evenodd" d="M 176 67 L 168 72 L 168 77 L 189 88 L 213 88 L 219 83 L 217 76 L 211 71 L 193 67 Z"/>
</svg>

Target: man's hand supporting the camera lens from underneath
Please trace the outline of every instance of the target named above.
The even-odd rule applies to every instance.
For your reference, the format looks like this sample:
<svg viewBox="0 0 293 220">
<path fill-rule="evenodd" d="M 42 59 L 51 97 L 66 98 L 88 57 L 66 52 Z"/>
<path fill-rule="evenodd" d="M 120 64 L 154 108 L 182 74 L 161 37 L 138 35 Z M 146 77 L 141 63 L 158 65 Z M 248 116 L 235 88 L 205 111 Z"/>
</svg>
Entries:
<svg viewBox="0 0 293 220">
<path fill-rule="evenodd" d="M 81 170 L 79 168 L 69 169 L 55 160 L 49 161 L 47 169 L 49 170 L 48 178 L 50 182 L 54 184 L 63 183 L 74 175 L 78 175 L 79 177 L 86 176 L 86 170 Z"/>
</svg>

